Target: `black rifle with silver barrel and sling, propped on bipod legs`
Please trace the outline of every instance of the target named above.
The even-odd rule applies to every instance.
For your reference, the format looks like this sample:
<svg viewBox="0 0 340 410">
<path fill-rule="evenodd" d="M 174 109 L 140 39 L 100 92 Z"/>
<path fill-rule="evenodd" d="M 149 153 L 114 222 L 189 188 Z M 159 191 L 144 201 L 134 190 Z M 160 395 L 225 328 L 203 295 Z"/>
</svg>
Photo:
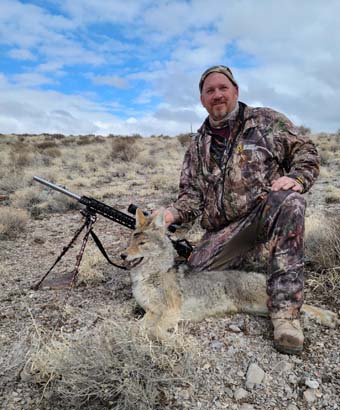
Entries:
<svg viewBox="0 0 340 410">
<path fill-rule="evenodd" d="M 99 250 L 102 252 L 103 256 L 105 257 L 105 259 L 111 264 L 114 265 L 118 268 L 121 269 L 127 269 L 125 266 L 121 266 L 118 265 L 114 262 L 111 261 L 111 259 L 109 258 L 109 256 L 107 255 L 104 246 L 102 245 L 102 243 L 100 242 L 98 236 L 94 233 L 93 231 L 93 225 L 97 220 L 97 214 L 104 216 L 107 219 L 110 219 L 113 222 L 116 222 L 120 225 L 123 225 L 129 229 L 135 229 L 136 227 L 136 219 L 124 212 L 119 211 L 118 209 L 112 208 L 111 206 L 97 201 L 94 198 L 88 197 L 88 196 L 80 196 L 77 195 L 71 191 L 68 191 L 66 188 L 63 188 L 59 185 L 53 184 L 50 181 L 47 181 L 46 179 L 43 179 L 41 177 L 38 176 L 34 176 L 33 179 L 43 185 L 48 186 L 49 188 L 54 189 L 55 191 L 61 192 L 64 195 L 67 195 L 75 200 L 77 200 L 80 204 L 85 205 L 85 209 L 81 210 L 81 214 L 85 217 L 85 222 L 84 224 L 75 232 L 73 238 L 71 239 L 70 243 L 63 248 L 61 254 L 58 256 L 58 258 L 56 259 L 56 261 L 54 262 L 54 264 L 51 266 L 51 268 L 47 271 L 47 273 L 40 279 L 40 281 L 34 285 L 32 288 L 37 290 L 39 289 L 39 287 L 41 286 L 42 282 L 45 280 L 45 278 L 48 276 L 48 274 L 52 271 L 52 269 L 54 268 L 54 266 L 60 261 L 60 259 L 65 255 L 65 253 L 71 248 L 71 246 L 73 245 L 73 243 L 76 241 L 76 239 L 78 238 L 78 236 L 80 235 L 80 233 L 86 228 L 86 232 L 83 238 L 83 242 L 81 245 L 81 249 L 77 255 L 77 260 L 76 260 L 76 266 L 75 269 L 72 271 L 71 273 L 71 278 L 70 279 L 70 283 L 67 283 L 67 285 L 73 286 L 74 283 L 76 282 L 78 273 L 79 273 L 79 265 L 82 259 L 82 256 L 84 254 L 84 250 L 87 244 L 87 240 L 89 235 L 91 235 L 91 237 L 93 238 L 95 244 L 97 245 L 97 247 L 99 248 Z M 130 204 L 129 208 L 128 208 L 128 212 L 135 214 L 136 210 L 137 210 L 137 206 L 134 204 Z M 144 212 L 145 215 L 147 215 L 146 212 Z M 177 226 L 176 225 L 170 225 L 168 227 L 168 230 L 170 232 L 175 232 L 176 231 Z M 175 250 L 177 251 L 178 255 L 187 259 L 193 248 L 192 245 L 186 240 L 186 239 L 177 239 L 174 240 L 172 238 L 170 238 Z"/>
</svg>

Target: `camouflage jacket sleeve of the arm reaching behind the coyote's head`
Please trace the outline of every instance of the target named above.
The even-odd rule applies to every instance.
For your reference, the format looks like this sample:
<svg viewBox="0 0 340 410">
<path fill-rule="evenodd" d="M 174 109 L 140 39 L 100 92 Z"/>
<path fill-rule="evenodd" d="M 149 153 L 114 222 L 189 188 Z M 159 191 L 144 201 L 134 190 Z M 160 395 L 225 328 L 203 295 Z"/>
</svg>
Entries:
<svg viewBox="0 0 340 410">
<path fill-rule="evenodd" d="M 176 222 L 191 222 L 202 213 L 203 196 L 199 184 L 199 170 L 200 161 L 194 137 L 184 156 L 178 198 L 170 208 Z"/>
</svg>

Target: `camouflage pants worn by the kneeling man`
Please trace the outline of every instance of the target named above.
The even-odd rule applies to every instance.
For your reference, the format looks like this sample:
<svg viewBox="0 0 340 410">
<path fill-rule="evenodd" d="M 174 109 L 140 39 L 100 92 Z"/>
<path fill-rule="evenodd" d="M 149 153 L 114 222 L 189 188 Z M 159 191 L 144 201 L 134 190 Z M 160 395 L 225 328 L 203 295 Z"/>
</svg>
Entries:
<svg viewBox="0 0 340 410">
<path fill-rule="evenodd" d="M 305 207 L 297 192 L 270 192 L 246 217 L 219 231 L 206 232 L 189 258 L 190 266 L 196 271 L 265 270 L 269 310 L 299 310 Z"/>
</svg>

